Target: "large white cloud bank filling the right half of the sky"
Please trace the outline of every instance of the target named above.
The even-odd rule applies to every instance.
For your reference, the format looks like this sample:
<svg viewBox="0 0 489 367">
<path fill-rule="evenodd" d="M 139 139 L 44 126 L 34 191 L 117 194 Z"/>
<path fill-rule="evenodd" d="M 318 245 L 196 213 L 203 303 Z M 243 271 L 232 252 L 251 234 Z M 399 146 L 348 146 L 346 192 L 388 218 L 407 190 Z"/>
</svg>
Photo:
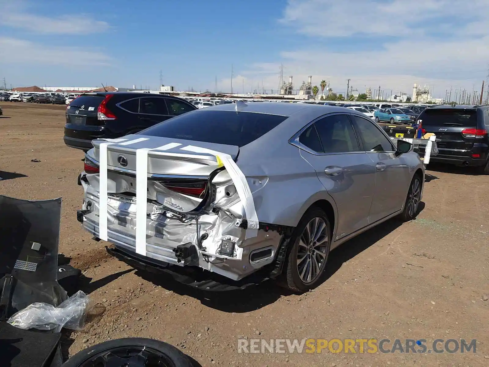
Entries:
<svg viewBox="0 0 489 367">
<path fill-rule="evenodd" d="M 413 83 L 434 86 L 442 97 L 450 86 L 471 91 L 475 84 L 480 91 L 489 61 L 488 12 L 487 0 L 289 0 L 279 22 L 317 46 L 284 50 L 276 63 L 254 64 L 246 75 L 256 84 L 267 74 L 266 89 L 276 90 L 283 63 L 284 78 L 293 75 L 296 88 L 312 75 L 313 85 L 325 79 L 343 93 L 349 78 L 359 92 L 380 85 L 386 94 L 411 94 Z M 374 46 L 337 48 L 359 36 Z"/>
</svg>

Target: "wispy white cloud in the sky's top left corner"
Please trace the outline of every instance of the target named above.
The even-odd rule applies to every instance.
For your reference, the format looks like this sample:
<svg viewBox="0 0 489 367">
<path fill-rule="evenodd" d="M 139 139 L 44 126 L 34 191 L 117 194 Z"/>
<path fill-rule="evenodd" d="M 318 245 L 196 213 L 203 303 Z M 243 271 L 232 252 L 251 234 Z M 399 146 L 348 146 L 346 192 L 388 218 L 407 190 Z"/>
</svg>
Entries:
<svg viewBox="0 0 489 367">
<path fill-rule="evenodd" d="M 31 14 L 15 2 L 1 2 L 0 24 L 41 34 L 89 34 L 103 32 L 109 23 L 97 21 L 88 14 L 44 17 Z"/>
</svg>

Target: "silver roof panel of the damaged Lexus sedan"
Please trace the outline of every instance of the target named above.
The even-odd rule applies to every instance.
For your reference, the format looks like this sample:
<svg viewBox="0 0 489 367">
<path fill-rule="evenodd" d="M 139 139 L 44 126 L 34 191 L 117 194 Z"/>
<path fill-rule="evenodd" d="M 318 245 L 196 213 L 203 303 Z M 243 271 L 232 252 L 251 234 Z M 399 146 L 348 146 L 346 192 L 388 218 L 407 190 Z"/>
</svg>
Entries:
<svg viewBox="0 0 489 367">
<path fill-rule="evenodd" d="M 316 105 L 311 103 L 283 103 L 283 102 L 268 102 L 268 103 L 235 103 L 222 104 L 214 107 L 208 107 L 207 111 L 238 111 L 254 112 L 268 115 L 281 115 L 291 116 L 297 112 L 311 110 L 316 111 L 318 115 L 325 115 L 332 112 L 345 112 L 351 113 L 352 109 L 346 109 L 343 107 L 329 106 L 329 105 Z M 353 110 L 355 111 L 355 110 Z"/>
</svg>

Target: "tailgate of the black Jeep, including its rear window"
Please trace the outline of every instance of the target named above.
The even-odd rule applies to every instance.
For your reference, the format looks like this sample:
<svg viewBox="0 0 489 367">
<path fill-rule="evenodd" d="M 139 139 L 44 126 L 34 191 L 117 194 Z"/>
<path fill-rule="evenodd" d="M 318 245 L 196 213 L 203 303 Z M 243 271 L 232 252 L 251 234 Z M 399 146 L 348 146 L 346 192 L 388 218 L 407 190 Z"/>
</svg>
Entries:
<svg viewBox="0 0 489 367">
<path fill-rule="evenodd" d="M 427 133 L 436 135 L 440 155 L 463 156 L 472 149 L 475 136 L 462 132 L 477 128 L 475 109 L 426 109 L 419 119 L 422 120 L 422 128 Z"/>
</svg>

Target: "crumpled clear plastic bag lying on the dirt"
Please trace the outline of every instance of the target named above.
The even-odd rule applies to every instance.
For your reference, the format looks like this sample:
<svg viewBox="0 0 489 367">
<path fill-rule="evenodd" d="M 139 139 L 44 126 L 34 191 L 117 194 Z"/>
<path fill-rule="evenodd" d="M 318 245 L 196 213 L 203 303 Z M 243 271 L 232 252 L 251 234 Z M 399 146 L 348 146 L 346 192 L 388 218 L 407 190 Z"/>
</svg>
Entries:
<svg viewBox="0 0 489 367">
<path fill-rule="evenodd" d="M 88 296 L 78 291 L 58 307 L 48 303 L 35 302 L 16 312 L 8 323 L 20 329 L 39 329 L 61 331 L 65 327 L 81 330 L 87 319 L 90 301 Z"/>
</svg>

